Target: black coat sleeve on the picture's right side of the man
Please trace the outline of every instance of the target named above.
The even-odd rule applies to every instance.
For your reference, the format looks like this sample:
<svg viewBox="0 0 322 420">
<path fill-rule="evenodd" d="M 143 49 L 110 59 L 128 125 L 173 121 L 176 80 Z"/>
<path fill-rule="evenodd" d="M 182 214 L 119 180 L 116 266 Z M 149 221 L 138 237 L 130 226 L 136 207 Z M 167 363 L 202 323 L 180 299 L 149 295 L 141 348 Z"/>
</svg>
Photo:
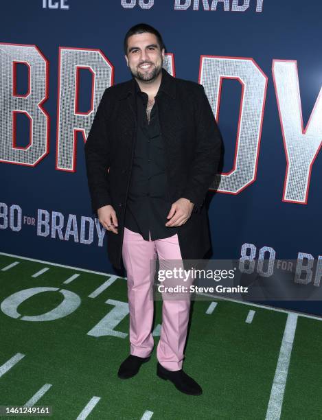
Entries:
<svg viewBox="0 0 322 420">
<path fill-rule="evenodd" d="M 207 191 L 217 174 L 222 148 L 222 136 L 205 89 L 202 84 L 198 86 L 200 96 L 196 118 L 196 149 L 182 195 L 194 203 L 193 211 L 197 212 L 205 202 Z"/>
</svg>

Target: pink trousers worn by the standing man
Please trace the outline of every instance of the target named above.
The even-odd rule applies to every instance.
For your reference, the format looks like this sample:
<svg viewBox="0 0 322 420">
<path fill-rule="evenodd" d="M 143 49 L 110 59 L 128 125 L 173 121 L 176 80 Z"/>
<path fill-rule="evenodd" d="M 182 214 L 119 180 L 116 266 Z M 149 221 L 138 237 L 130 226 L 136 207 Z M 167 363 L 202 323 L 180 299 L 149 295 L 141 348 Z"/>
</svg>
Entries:
<svg viewBox="0 0 322 420">
<path fill-rule="evenodd" d="M 153 294 L 150 259 L 182 259 L 178 235 L 152 241 L 124 228 L 122 256 L 128 279 L 130 310 L 130 354 L 146 358 L 152 352 Z M 162 294 L 163 298 L 163 294 Z M 190 300 L 167 300 L 162 304 L 161 336 L 157 359 L 168 371 L 183 364 Z"/>
</svg>

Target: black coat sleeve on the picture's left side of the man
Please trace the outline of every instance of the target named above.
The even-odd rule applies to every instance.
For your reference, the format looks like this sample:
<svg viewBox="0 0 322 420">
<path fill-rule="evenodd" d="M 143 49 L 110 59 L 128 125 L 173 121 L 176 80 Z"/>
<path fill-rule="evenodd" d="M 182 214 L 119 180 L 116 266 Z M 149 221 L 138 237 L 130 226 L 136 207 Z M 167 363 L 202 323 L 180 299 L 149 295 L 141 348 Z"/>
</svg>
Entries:
<svg viewBox="0 0 322 420">
<path fill-rule="evenodd" d="M 107 89 L 102 95 L 84 145 L 87 182 L 93 213 L 96 213 L 100 207 L 111 205 L 108 185 L 110 146 L 107 133 L 106 96 Z"/>
</svg>

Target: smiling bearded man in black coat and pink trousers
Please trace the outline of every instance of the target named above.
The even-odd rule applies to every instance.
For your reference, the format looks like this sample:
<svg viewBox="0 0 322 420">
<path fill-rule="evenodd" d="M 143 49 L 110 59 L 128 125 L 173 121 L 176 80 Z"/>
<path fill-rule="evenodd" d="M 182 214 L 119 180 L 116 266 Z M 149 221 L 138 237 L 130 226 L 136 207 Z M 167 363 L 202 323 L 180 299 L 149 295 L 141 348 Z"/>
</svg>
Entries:
<svg viewBox="0 0 322 420">
<path fill-rule="evenodd" d="M 202 259 L 209 250 L 205 195 L 221 136 L 203 86 L 163 69 L 165 47 L 150 25 L 124 39 L 132 80 L 106 89 L 85 145 L 93 212 L 106 228 L 108 257 L 128 279 L 133 377 L 153 349 L 150 260 Z M 153 277 L 153 273 L 152 273 Z M 190 300 L 163 298 L 157 375 L 189 395 L 201 387 L 183 369 Z"/>
</svg>

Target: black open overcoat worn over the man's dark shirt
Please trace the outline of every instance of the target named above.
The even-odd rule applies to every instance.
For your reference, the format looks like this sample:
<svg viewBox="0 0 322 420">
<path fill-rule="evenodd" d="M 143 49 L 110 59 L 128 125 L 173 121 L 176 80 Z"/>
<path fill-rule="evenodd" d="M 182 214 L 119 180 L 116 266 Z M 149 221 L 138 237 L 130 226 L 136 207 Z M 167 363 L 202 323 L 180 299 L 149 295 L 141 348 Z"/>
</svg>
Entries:
<svg viewBox="0 0 322 420">
<path fill-rule="evenodd" d="M 201 84 L 174 78 L 162 69 L 158 102 L 168 187 L 172 202 L 194 203 L 178 238 L 183 259 L 203 259 L 210 248 L 205 196 L 218 170 L 222 137 Z M 121 268 L 124 215 L 136 138 L 135 79 L 107 88 L 85 143 L 85 161 L 94 214 L 112 205 L 118 233 L 106 231 L 111 264 Z M 109 170 L 108 170 L 109 168 Z"/>
</svg>

